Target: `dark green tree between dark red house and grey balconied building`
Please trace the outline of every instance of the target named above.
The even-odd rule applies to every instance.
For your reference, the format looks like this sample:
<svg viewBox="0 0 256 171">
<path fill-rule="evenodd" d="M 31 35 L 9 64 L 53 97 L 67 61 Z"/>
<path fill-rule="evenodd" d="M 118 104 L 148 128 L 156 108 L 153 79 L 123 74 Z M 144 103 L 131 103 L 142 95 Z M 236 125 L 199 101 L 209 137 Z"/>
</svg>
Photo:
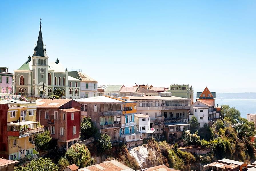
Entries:
<svg viewBox="0 0 256 171">
<path fill-rule="evenodd" d="M 81 122 L 81 134 L 85 138 L 90 138 L 95 133 L 97 133 L 97 128 L 94 126 L 94 123 L 91 121 L 90 117 L 84 117 L 83 121 Z"/>
</svg>

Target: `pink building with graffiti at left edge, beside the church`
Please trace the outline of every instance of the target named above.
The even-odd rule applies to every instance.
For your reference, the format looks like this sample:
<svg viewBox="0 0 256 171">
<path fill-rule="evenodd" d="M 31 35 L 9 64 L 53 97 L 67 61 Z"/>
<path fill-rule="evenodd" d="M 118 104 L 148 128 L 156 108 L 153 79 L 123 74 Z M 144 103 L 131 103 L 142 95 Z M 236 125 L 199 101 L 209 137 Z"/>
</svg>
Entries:
<svg viewBox="0 0 256 171">
<path fill-rule="evenodd" d="M 8 73 L 8 68 L 0 67 L 0 94 L 12 94 L 13 74 Z"/>
</svg>

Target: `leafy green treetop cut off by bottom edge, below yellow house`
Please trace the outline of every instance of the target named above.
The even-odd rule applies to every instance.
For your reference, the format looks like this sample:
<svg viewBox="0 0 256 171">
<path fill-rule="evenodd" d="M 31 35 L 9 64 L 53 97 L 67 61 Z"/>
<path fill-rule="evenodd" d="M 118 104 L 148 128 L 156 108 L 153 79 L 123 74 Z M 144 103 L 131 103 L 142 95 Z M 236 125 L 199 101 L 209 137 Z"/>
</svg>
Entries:
<svg viewBox="0 0 256 171">
<path fill-rule="evenodd" d="M 14 171 L 58 171 L 59 167 L 54 164 L 50 158 L 39 158 L 38 160 L 32 160 L 27 166 L 15 167 Z"/>
</svg>

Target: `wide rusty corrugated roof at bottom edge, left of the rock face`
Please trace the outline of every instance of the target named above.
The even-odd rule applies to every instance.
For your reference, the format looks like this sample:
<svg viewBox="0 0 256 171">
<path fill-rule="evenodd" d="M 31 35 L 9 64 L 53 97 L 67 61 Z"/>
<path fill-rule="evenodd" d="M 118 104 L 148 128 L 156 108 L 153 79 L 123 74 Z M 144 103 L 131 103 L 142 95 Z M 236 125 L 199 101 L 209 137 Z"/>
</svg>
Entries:
<svg viewBox="0 0 256 171">
<path fill-rule="evenodd" d="M 116 160 L 102 162 L 100 164 L 95 164 L 95 165 L 81 168 L 78 170 L 79 171 L 122 171 L 122 170 L 135 171 Z"/>
</svg>

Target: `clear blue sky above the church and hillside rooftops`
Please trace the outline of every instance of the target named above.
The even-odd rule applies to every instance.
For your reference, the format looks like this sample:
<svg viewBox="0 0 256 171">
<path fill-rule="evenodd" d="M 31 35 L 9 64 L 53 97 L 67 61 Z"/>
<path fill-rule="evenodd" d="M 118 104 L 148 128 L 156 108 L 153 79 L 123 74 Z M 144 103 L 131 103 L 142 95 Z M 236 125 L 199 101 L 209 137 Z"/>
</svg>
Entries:
<svg viewBox="0 0 256 171">
<path fill-rule="evenodd" d="M 49 61 L 98 84 L 255 92 L 256 1 L 2 1 L 1 66 L 33 55 L 42 17 Z"/>
</svg>

